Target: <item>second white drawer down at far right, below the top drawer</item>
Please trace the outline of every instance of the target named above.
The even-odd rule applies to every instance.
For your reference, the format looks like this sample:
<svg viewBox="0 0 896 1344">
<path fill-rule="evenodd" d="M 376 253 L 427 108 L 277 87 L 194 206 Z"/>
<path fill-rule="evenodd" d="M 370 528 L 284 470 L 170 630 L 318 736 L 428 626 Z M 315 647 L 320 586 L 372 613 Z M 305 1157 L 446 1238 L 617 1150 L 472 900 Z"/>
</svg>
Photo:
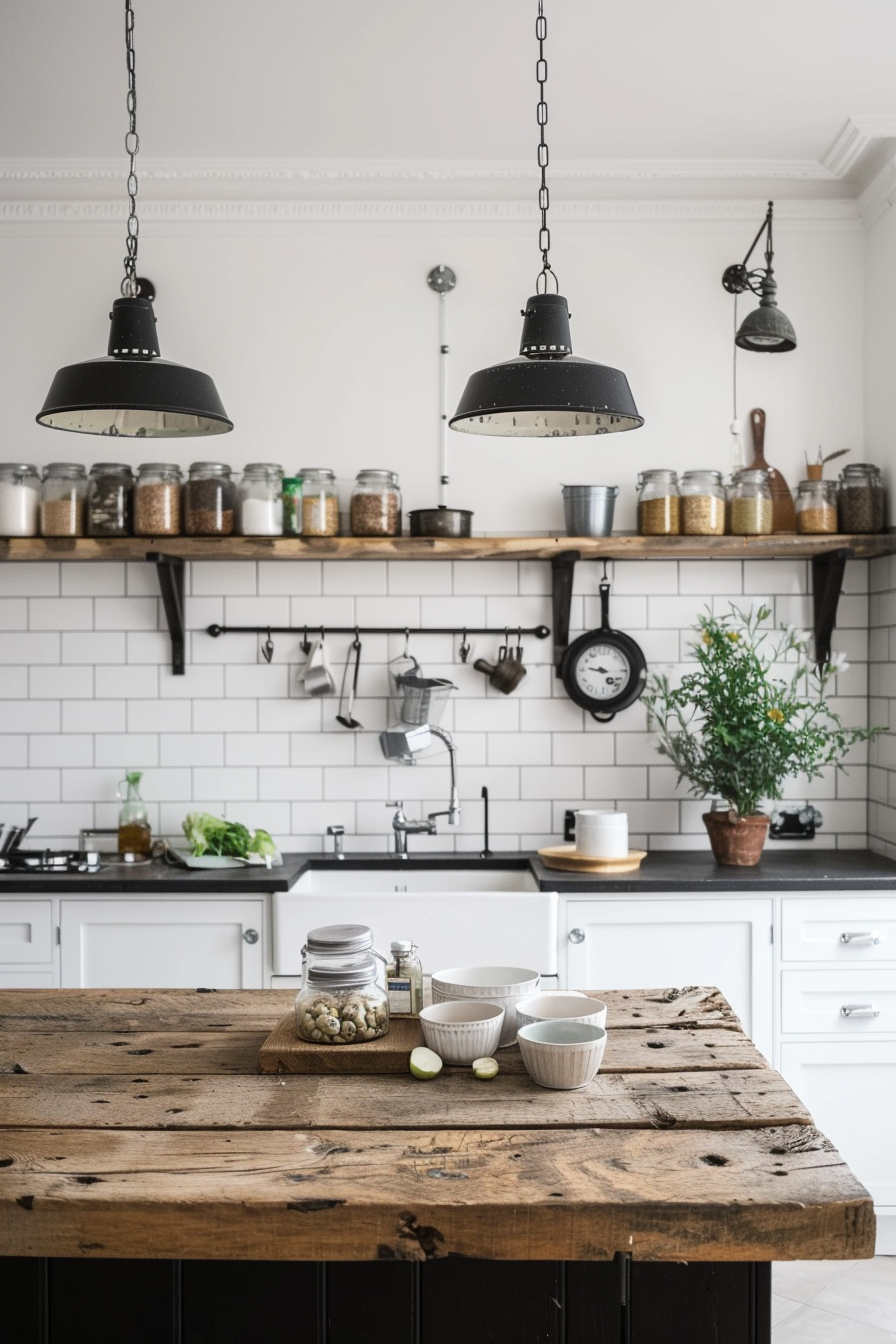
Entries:
<svg viewBox="0 0 896 1344">
<path fill-rule="evenodd" d="M 896 970 L 783 970 L 780 1030 L 813 1035 L 896 1035 Z"/>
</svg>

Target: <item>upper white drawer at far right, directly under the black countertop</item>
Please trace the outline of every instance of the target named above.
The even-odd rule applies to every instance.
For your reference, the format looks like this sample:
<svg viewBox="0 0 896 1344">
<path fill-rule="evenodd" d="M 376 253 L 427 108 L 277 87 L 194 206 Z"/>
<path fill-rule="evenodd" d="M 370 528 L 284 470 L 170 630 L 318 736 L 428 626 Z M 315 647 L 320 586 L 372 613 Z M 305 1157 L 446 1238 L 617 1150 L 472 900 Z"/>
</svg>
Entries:
<svg viewBox="0 0 896 1344">
<path fill-rule="evenodd" d="M 783 961 L 896 961 L 896 896 L 782 900 L 780 930 Z"/>
</svg>

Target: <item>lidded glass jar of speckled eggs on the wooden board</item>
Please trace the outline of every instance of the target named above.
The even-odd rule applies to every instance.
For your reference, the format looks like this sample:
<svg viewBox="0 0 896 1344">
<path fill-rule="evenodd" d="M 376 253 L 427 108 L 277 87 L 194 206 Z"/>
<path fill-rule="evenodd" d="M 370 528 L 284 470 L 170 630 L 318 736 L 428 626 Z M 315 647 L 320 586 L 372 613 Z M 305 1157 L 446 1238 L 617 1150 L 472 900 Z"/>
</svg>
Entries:
<svg viewBox="0 0 896 1344">
<path fill-rule="evenodd" d="M 388 1031 L 388 999 L 377 981 L 373 934 L 365 925 L 312 929 L 302 948 L 296 1035 L 321 1046 L 360 1044 Z"/>
</svg>

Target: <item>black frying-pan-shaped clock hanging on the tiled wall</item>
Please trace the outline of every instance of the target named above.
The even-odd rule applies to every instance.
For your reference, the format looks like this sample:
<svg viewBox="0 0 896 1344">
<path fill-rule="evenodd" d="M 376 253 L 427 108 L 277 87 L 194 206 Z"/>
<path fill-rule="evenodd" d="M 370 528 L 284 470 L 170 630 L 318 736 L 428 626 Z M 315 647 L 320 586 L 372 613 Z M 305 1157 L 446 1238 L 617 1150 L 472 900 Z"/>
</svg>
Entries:
<svg viewBox="0 0 896 1344">
<path fill-rule="evenodd" d="M 610 629 L 610 582 L 600 582 L 600 629 L 587 630 L 567 648 L 560 663 L 567 695 L 583 710 L 609 723 L 641 696 L 647 664 L 629 634 Z"/>
</svg>

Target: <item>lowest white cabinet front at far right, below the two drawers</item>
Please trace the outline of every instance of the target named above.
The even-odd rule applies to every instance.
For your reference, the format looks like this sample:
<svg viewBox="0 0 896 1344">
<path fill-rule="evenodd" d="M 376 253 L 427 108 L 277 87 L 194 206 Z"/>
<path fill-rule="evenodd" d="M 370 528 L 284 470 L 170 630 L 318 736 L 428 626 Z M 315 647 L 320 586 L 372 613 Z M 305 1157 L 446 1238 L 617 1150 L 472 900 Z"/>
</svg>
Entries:
<svg viewBox="0 0 896 1344">
<path fill-rule="evenodd" d="M 896 1042 L 785 1042 L 780 1071 L 876 1204 L 896 1204 Z"/>
</svg>

